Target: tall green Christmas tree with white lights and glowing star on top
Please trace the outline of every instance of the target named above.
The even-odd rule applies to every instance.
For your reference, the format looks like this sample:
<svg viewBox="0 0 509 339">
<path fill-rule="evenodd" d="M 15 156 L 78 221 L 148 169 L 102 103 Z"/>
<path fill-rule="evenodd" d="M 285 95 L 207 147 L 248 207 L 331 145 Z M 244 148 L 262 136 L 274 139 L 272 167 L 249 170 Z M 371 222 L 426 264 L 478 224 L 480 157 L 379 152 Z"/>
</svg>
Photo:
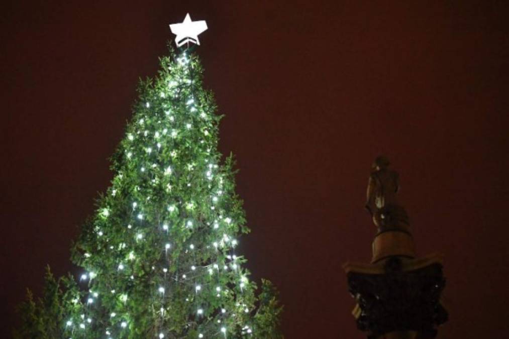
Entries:
<svg viewBox="0 0 509 339">
<path fill-rule="evenodd" d="M 83 271 L 48 270 L 42 298 L 20 307 L 19 337 L 281 337 L 275 290 L 263 280 L 257 295 L 236 251 L 249 230 L 234 161 L 217 150 L 221 117 L 187 48 L 204 25 L 172 25 L 180 52 L 140 83 L 111 186 L 72 246 Z"/>
</svg>

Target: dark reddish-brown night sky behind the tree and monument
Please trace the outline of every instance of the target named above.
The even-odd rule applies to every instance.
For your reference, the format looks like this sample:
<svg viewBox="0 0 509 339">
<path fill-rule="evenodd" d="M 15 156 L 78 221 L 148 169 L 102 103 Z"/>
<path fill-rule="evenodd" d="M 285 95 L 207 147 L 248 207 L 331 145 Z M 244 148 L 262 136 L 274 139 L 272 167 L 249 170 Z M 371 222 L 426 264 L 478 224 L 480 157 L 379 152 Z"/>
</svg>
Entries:
<svg viewBox="0 0 509 339">
<path fill-rule="evenodd" d="M 461 1 L 24 1 L 0 5 L 0 337 L 112 174 L 138 77 L 187 11 L 237 155 L 254 278 L 297 338 L 363 338 L 342 264 L 369 261 L 374 157 L 401 173 L 420 255 L 441 251 L 440 338 L 509 331 L 509 8 Z M 505 3 L 505 4 L 503 4 Z M 504 6 L 502 6 L 504 5 Z"/>
</svg>

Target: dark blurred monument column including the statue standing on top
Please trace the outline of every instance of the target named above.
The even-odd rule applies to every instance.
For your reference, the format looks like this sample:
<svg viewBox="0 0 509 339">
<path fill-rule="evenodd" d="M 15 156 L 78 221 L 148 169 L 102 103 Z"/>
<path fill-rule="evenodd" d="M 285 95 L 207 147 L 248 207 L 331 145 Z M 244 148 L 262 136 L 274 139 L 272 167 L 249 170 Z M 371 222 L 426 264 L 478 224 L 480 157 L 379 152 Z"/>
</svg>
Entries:
<svg viewBox="0 0 509 339">
<path fill-rule="evenodd" d="M 353 315 L 368 339 L 428 339 L 447 321 L 440 302 L 443 258 L 418 258 L 408 214 L 397 199 L 399 175 L 380 156 L 372 165 L 366 209 L 377 233 L 369 264 L 346 263 L 348 287 L 357 304 Z"/>
</svg>

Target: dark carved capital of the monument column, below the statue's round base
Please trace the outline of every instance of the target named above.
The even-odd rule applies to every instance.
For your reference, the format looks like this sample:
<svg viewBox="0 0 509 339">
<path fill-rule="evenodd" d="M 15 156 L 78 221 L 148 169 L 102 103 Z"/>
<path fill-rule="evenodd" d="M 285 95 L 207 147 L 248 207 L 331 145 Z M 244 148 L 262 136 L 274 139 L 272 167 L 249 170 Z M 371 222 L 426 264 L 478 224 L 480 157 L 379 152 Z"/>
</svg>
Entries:
<svg viewBox="0 0 509 339">
<path fill-rule="evenodd" d="M 440 304 L 445 287 L 442 258 L 390 257 L 376 264 L 347 263 L 350 293 L 357 305 L 357 327 L 369 339 L 435 338 L 447 321 Z"/>
</svg>

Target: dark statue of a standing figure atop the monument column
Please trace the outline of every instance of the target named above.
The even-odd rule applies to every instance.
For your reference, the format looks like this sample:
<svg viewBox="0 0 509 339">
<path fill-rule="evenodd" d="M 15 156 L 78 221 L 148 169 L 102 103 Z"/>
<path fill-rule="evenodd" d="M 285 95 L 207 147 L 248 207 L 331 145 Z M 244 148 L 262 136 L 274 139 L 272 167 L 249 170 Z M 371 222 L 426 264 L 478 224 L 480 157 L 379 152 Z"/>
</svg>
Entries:
<svg viewBox="0 0 509 339">
<path fill-rule="evenodd" d="M 365 207 L 371 213 L 379 232 L 408 229 L 407 212 L 398 204 L 396 196 L 400 188 L 400 176 L 398 172 L 390 170 L 389 165 L 386 157 L 378 156 L 367 183 Z"/>
</svg>

